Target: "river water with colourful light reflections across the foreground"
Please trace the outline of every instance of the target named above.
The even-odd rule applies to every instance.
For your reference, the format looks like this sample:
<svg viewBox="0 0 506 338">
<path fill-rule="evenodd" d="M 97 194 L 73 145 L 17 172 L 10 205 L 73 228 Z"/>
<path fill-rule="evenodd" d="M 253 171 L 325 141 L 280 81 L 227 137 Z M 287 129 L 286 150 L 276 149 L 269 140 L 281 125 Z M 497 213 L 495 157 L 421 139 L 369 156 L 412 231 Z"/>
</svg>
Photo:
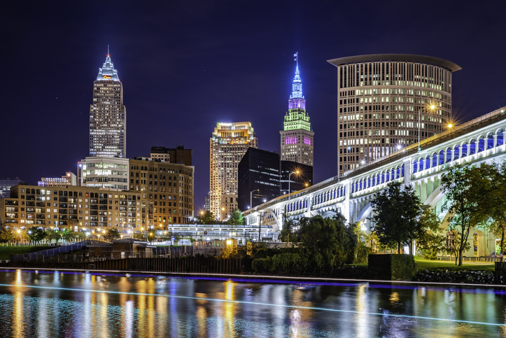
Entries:
<svg viewBox="0 0 506 338">
<path fill-rule="evenodd" d="M 495 337 L 492 288 L 0 272 L 1 337 Z"/>
</svg>

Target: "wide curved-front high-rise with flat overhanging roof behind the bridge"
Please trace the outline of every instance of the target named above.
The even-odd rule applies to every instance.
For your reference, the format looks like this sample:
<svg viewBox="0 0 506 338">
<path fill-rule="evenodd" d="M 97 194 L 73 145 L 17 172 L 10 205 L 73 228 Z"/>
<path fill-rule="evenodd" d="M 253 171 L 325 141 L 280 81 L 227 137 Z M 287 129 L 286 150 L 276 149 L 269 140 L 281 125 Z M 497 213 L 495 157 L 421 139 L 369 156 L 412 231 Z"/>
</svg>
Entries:
<svg viewBox="0 0 506 338">
<path fill-rule="evenodd" d="M 442 132 L 451 121 L 451 73 L 461 69 L 453 62 L 409 54 L 328 62 L 337 66 L 339 173 Z"/>
</svg>

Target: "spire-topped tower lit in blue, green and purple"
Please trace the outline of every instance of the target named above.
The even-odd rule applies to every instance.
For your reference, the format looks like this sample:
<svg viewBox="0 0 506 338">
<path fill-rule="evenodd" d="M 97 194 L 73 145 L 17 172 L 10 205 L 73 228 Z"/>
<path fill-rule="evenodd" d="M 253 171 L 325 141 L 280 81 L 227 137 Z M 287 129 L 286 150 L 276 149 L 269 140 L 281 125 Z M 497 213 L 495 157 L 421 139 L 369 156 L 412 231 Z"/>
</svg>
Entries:
<svg viewBox="0 0 506 338">
<path fill-rule="evenodd" d="M 285 114 L 281 134 L 281 161 L 293 161 L 313 166 L 313 139 L 311 122 L 306 111 L 306 99 L 302 95 L 297 54 L 295 78 L 292 83 L 292 94 L 288 100 L 288 111 Z"/>
</svg>

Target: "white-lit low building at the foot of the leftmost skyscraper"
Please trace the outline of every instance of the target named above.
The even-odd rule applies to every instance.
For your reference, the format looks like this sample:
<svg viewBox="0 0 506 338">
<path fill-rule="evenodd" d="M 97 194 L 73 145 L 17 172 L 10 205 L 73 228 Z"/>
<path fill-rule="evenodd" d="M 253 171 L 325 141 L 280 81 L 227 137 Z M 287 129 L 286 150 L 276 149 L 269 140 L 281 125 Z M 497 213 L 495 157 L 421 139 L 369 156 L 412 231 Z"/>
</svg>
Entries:
<svg viewBox="0 0 506 338">
<path fill-rule="evenodd" d="M 128 190 L 128 161 L 119 157 L 86 157 L 81 160 L 81 185 Z"/>
</svg>

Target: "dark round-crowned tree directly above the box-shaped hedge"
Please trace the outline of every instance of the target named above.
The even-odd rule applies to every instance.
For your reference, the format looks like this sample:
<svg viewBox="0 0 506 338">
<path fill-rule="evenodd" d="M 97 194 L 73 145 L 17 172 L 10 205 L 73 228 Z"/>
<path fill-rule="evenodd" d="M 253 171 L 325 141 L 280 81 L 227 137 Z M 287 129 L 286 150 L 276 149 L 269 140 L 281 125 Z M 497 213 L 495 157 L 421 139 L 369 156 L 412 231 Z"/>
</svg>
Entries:
<svg viewBox="0 0 506 338">
<path fill-rule="evenodd" d="M 419 220 L 423 213 L 423 204 L 415 195 L 411 185 L 393 181 L 387 188 L 374 195 L 371 201 L 374 216 L 371 231 L 376 232 L 384 246 L 397 244 L 398 253 L 404 244 L 409 245 L 413 253 L 413 242 L 419 237 Z"/>
</svg>

